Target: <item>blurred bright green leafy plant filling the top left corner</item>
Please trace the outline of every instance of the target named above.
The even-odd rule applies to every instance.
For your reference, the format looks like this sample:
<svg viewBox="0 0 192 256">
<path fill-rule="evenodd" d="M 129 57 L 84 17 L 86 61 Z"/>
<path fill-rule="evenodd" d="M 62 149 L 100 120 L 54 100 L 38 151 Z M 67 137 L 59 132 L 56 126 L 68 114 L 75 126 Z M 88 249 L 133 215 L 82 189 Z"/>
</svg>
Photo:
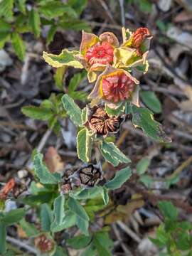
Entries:
<svg viewBox="0 0 192 256">
<path fill-rule="evenodd" d="M 24 60 L 25 33 L 33 33 L 36 38 L 40 38 L 42 29 L 47 26 L 48 45 L 60 28 L 90 30 L 87 23 L 80 20 L 80 14 L 86 5 L 86 0 L 71 0 L 67 4 L 59 0 L 3 0 L 0 3 L 0 48 L 4 48 L 5 43 L 11 41 L 18 58 Z"/>
</svg>

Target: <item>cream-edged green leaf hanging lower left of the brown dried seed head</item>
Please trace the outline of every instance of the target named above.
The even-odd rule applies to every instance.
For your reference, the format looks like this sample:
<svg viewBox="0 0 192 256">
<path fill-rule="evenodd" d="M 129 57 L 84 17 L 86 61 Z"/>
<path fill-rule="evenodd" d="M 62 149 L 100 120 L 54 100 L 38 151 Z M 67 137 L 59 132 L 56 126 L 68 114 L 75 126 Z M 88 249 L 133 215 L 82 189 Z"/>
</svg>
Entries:
<svg viewBox="0 0 192 256">
<path fill-rule="evenodd" d="M 87 128 L 83 128 L 78 132 L 77 151 L 79 159 L 85 163 L 90 161 L 92 151 L 92 133 Z"/>
</svg>

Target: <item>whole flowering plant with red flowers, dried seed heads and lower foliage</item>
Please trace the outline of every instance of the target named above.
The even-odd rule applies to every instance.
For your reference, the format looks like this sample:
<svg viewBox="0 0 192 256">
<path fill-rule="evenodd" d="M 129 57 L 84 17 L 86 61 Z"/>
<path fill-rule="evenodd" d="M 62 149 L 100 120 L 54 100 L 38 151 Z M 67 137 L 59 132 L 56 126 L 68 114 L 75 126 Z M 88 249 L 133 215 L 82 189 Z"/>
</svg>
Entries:
<svg viewBox="0 0 192 256">
<path fill-rule="evenodd" d="M 105 32 L 99 37 L 82 32 L 79 50 L 64 49 L 60 55 L 43 53 L 47 63 L 57 68 L 55 78 L 63 90 L 63 75 L 66 68 L 85 69 L 89 82 L 95 82 L 90 95 L 75 91 L 82 75 L 76 74 L 65 88 L 65 93 L 51 95 L 40 107 L 23 107 L 22 112 L 29 117 L 47 120 L 50 129 L 59 132 L 60 119 L 70 117 L 78 127 L 77 153 L 83 162 L 79 166 L 62 166 L 60 172 L 50 171 L 43 163 L 43 155 L 33 153 L 33 176 L 36 178 L 29 186 L 11 179 L 0 191 L 0 203 L 14 198 L 27 206 L 36 206 L 40 220 L 31 225 L 22 218 L 31 208 L 16 209 L 19 225 L 28 236 L 33 237 L 38 255 L 68 255 L 67 246 L 75 249 L 85 248 L 84 255 L 112 255 L 112 240 L 108 236 L 110 227 L 105 222 L 100 229 L 95 219 L 105 215 L 105 211 L 116 209 L 111 191 L 121 186 L 132 176 L 128 164 L 131 159 L 119 150 L 114 143 L 121 134 L 122 124 L 132 119 L 134 127 L 157 142 L 171 142 L 161 124 L 154 120 L 153 112 L 139 105 L 139 80 L 137 72 L 146 73 L 151 35 L 147 28 L 139 28 L 131 33 L 122 28 L 122 44 L 113 33 Z M 78 97 L 77 97 L 78 96 Z M 91 100 L 83 109 L 74 100 Z M 92 151 L 95 151 L 94 163 Z M 116 167 L 122 165 L 114 178 L 107 180 L 100 156 L 106 163 Z M 135 181 L 142 178 L 136 174 Z M 22 197 L 28 192 L 27 197 Z M 126 201 L 127 202 L 127 201 Z M 124 204 L 124 203 L 119 203 Z M 3 208 L 1 203 L 1 207 Z M 117 212 L 119 208 L 116 209 Z M 6 233 L 6 226 L 13 223 L 12 213 L 0 214 L 0 228 Z M 114 213 L 115 215 L 115 213 Z M 113 219 L 113 218 L 112 218 Z M 9 220 L 9 221 L 8 221 Z M 112 223 L 113 220 L 110 220 Z M 2 223 L 2 224 L 1 224 Z M 80 235 L 70 235 L 65 243 L 57 242 L 57 234 L 65 233 L 71 227 L 78 227 Z M 78 231 L 79 232 L 79 231 Z M 74 233 L 72 233 L 74 234 Z M 64 237 L 67 237 L 64 234 Z M 103 241 L 105 240 L 105 244 Z M 60 241 L 60 240 L 59 240 Z M 6 251 L 6 244 L 0 252 Z"/>
</svg>

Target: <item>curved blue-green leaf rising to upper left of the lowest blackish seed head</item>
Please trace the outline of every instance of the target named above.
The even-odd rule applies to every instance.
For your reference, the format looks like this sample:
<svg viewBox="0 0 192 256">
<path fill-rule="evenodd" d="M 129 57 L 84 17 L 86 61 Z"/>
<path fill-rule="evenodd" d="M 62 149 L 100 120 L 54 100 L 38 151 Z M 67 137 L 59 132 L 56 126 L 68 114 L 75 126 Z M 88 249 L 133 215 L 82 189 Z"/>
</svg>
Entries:
<svg viewBox="0 0 192 256">
<path fill-rule="evenodd" d="M 33 168 L 39 181 L 43 184 L 57 184 L 58 179 L 48 171 L 47 167 L 43 164 L 43 154 L 36 154 L 33 158 Z"/>
</svg>

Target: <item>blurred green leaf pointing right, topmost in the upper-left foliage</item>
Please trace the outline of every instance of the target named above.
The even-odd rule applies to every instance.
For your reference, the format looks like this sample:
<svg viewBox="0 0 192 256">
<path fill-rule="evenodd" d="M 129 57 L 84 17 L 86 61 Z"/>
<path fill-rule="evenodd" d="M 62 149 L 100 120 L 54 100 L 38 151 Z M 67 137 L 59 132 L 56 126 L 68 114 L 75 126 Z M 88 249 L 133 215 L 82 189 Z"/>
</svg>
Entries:
<svg viewBox="0 0 192 256">
<path fill-rule="evenodd" d="M 76 12 L 70 6 L 67 6 L 59 1 L 46 3 L 46 5 L 39 8 L 39 11 L 49 19 L 63 16 L 64 14 L 68 14 L 71 18 L 78 17 Z"/>
</svg>

